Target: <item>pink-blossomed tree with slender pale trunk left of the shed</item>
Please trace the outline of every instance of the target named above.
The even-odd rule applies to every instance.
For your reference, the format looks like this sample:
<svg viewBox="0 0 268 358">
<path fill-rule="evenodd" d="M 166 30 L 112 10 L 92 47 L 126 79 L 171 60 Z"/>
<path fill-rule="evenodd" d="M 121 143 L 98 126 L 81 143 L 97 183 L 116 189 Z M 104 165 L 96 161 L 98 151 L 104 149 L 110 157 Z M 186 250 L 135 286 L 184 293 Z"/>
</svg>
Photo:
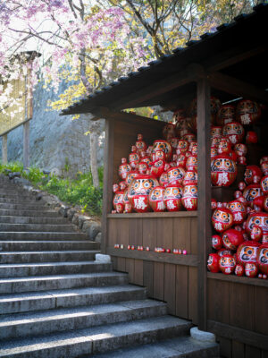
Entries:
<svg viewBox="0 0 268 358">
<path fill-rule="evenodd" d="M 7 0 L 0 4 L 0 111 L 12 106 L 12 80 L 29 65 L 31 85 L 38 81 L 40 67 L 46 88 L 57 91 L 61 81 L 70 83 L 59 100 L 48 104 L 62 110 L 147 62 L 145 47 L 146 40 L 135 36 L 119 8 L 102 10 L 83 0 Z M 21 60 L 17 54 L 29 48 L 43 56 Z M 88 128 L 96 186 L 96 136 L 101 130 L 97 123 Z"/>
</svg>

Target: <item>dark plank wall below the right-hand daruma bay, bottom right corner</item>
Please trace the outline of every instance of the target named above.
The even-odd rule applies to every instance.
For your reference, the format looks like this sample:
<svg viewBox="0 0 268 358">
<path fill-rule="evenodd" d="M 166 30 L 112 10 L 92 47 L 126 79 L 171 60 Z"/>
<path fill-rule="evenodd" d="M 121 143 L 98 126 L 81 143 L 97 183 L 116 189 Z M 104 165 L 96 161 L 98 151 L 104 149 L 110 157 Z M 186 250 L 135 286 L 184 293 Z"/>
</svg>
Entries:
<svg viewBox="0 0 268 358">
<path fill-rule="evenodd" d="M 222 274 L 214 274 L 222 275 Z M 268 357 L 268 283 L 208 278 L 208 329 L 226 358 Z M 248 280 L 248 278 L 246 278 Z M 263 286 L 261 286 L 263 285 Z"/>
</svg>

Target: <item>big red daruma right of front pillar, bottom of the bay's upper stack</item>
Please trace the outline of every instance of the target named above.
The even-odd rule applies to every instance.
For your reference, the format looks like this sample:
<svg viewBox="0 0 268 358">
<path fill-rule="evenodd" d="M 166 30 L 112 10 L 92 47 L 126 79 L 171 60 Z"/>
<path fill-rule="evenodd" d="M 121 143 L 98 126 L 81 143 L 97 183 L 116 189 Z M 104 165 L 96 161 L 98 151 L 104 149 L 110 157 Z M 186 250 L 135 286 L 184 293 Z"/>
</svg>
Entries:
<svg viewBox="0 0 268 358">
<path fill-rule="evenodd" d="M 212 183 L 216 186 L 230 186 L 237 177 L 236 163 L 228 155 L 219 155 L 211 161 Z"/>
</svg>

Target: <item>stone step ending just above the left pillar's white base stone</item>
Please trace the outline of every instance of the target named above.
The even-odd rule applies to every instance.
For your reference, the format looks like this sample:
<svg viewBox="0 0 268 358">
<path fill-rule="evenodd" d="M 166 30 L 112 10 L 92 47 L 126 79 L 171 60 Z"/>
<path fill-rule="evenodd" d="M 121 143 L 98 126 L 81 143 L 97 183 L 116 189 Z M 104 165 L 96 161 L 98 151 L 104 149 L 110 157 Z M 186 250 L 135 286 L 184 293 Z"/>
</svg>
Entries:
<svg viewBox="0 0 268 358">
<path fill-rule="evenodd" d="M 98 250 L 99 243 L 92 241 L 0 241 L 0 251 L 70 251 Z"/>
</svg>

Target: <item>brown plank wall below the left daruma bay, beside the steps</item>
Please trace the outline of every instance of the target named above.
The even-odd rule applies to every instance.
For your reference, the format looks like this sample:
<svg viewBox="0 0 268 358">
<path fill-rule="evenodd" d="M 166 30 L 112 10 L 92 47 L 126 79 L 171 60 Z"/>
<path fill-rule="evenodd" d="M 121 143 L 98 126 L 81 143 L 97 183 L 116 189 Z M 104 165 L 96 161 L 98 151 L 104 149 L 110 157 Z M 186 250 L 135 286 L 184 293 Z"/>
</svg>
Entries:
<svg viewBox="0 0 268 358">
<path fill-rule="evenodd" d="M 171 314 L 197 323 L 197 260 L 192 260 L 197 258 L 197 216 L 111 216 L 108 218 L 108 243 L 108 252 L 115 255 L 114 243 L 123 244 L 125 248 L 130 244 L 149 246 L 151 250 L 156 246 L 187 250 L 188 255 L 181 257 L 172 253 L 156 256 L 152 251 L 142 254 L 124 251 L 125 257 L 113 256 L 113 268 L 128 272 L 130 283 L 146 286 L 149 297 L 167 302 Z M 121 250 L 117 252 L 121 254 Z M 133 254 L 140 255 L 142 260 L 131 258 Z M 164 262 L 161 255 L 167 258 Z"/>
</svg>

